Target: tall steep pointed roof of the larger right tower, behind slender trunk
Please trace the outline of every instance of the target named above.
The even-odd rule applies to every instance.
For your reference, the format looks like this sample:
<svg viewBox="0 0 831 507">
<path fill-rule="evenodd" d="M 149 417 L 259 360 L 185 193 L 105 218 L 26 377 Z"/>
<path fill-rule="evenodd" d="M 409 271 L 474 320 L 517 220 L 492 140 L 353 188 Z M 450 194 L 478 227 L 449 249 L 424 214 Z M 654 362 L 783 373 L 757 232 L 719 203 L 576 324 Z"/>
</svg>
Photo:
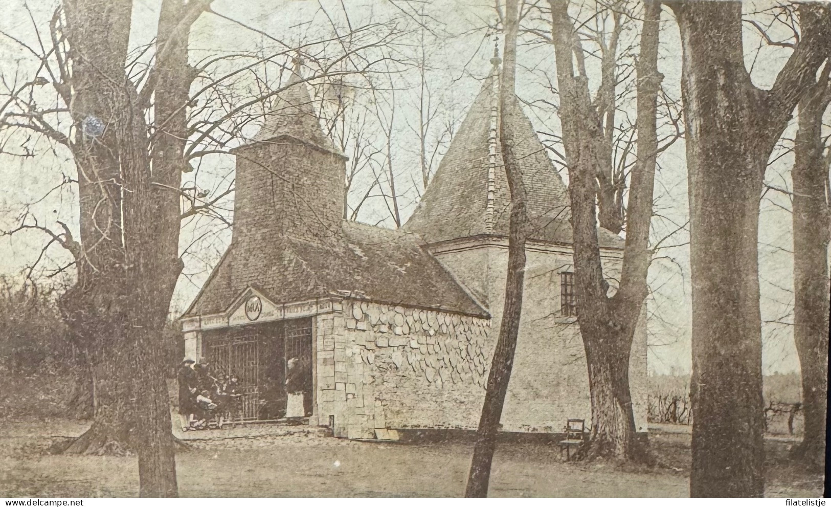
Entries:
<svg viewBox="0 0 831 507">
<path fill-rule="evenodd" d="M 527 191 L 532 239 L 570 244 L 568 189 L 519 101 L 509 106 L 514 108 L 509 118 L 519 141 L 514 150 Z M 510 197 L 500 145 L 499 67 L 494 65 L 404 229 L 431 244 L 507 235 Z M 623 240 L 606 229 L 598 230 L 598 239 L 603 247 L 622 248 Z"/>
</svg>

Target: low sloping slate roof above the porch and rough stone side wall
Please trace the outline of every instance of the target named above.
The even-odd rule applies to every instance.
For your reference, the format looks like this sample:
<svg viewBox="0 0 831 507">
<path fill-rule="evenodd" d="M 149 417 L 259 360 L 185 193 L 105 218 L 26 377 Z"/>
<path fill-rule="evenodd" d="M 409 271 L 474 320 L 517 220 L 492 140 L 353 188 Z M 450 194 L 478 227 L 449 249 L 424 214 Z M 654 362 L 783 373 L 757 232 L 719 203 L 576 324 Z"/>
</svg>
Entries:
<svg viewBox="0 0 831 507">
<path fill-rule="evenodd" d="M 344 243 L 327 246 L 280 236 L 251 252 L 232 241 L 185 316 L 224 312 L 249 286 L 274 303 L 351 295 L 488 316 L 416 234 L 347 221 L 343 231 Z"/>
</svg>

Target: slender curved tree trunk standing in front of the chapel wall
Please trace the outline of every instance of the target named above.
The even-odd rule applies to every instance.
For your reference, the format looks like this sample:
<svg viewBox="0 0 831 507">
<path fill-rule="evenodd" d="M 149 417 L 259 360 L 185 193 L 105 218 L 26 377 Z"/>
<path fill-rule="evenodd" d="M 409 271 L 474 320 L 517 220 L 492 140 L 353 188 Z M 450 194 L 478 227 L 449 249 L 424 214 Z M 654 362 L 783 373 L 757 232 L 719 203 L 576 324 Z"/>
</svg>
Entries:
<svg viewBox="0 0 831 507">
<path fill-rule="evenodd" d="M 496 436 L 502 417 L 505 394 L 511 378 L 519 334 L 519 317 L 522 314 L 523 285 L 525 279 L 525 229 L 528 214 L 525 208 L 525 189 L 514 148 L 518 142 L 514 133 L 514 116 L 519 114 L 519 103 L 514 96 L 514 72 L 516 66 L 517 30 L 519 24 L 518 0 L 508 0 L 505 8 L 505 51 L 502 79 L 499 86 L 499 129 L 502 158 L 511 198 L 508 239 L 508 273 L 505 280 L 505 302 L 499 338 L 494 349 L 488 373 L 488 384 L 476 430 L 476 444 L 470 462 L 465 497 L 488 495 L 491 462 L 494 458 Z M 494 66 L 499 61 L 494 59 Z M 494 71 L 498 71 L 494 68 Z"/>
</svg>

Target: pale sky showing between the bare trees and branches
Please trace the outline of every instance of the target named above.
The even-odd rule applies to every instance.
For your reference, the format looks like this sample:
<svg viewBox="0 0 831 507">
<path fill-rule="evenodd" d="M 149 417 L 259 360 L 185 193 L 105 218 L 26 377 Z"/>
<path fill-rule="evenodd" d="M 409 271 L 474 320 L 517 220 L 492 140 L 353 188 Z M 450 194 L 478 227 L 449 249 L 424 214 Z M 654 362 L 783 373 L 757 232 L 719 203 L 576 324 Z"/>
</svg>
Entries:
<svg viewBox="0 0 831 507">
<path fill-rule="evenodd" d="M 22 15 L 7 16 L 0 20 L 0 31 L 13 35 L 23 42 L 37 47 L 37 38 L 32 29 L 25 9 L 22 9 L 22 0 L 9 0 L 12 6 L 7 12 L 17 12 Z M 297 1 L 297 0 L 269 0 L 268 2 L 245 2 L 244 9 L 239 8 L 241 2 L 230 0 L 216 0 L 214 10 L 231 17 L 235 21 L 267 32 L 289 44 L 297 42 L 307 44 L 323 38 L 322 33 L 328 30 L 328 17 L 332 17 L 338 24 L 344 24 L 346 17 L 341 10 L 340 2 L 326 1 Z M 42 30 L 47 29 L 47 20 L 52 16 L 55 0 L 29 0 L 32 14 Z M 398 2 L 403 5 L 402 2 Z M 155 33 L 160 0 L 135 0 L 133 15 L 132 44 L 139 47 L 152 40 Z M 415 27 L 410 17 L 403 16 L 401 11 L 390 2 L 381 0 L 360 0 L 347 2 L 349 22 L 353 27 L 361 26 L 366 22 L 386 22 L 398 18 L 402 27 Z M 485 37 L 481 27 L 485 22 L 495 19 L 491 2 L 482 0 L 457 0 L 455 2 L 417 3 L 424 6 L 425 14 L 431 19 L 427 24 L 437 27 L 439 37 L 428 37 L 427 71 L 430 88 L 445 102 L 440 113 L 441 122 L 450 122 L 458 125 L 467 106 L 479 90 L 479 80 L 489 71 L 489 58 L 493 52 L 492 37 Z M 9 8 L 11 7 L 11 8 Z M 748 3 L 747 10 L 753 7 Z M 419 7 L 420 8 L 420 7 Z M 666 93 L 672 98 L 680 97 L 680 57 L 681 47 L 678 41 L 677 28 L 671 17 L 671 12 L 665 9 L 663 15 L 665 30 L 661 32 L 661 62 L 660 70 L 665 75 L 664 86 Z M 194 25 L 191 38 L 192 63 L 199 62 L 204 57 L 232 52 L 246 52 L 260 47 L 274 47 L 278 43 L 258 32 L 240 26 L 239 23 L 211 14 L 203 14 Z M 417 32 L 416 32 L 417 33 Z M 627 32 L 623 38 L 637 41 L 637 30 Z M 634 38 L 633 38 L 634 37 Z M 787 50 L 782 48 L 762 48 L 757 56 L 759 37 L 750 30 L 745 32 L 745 52 L 747 65 L 752 68 L 751 76 L 758 86 L 770 86 L 775 73 L 784 64 L 788 56 Z M 419 46 L 416 34 L 396 42 L 395 50 L 404 54 L 410 52 L 415 55 Z M 557 132 L 559 122 L 556 113 L 543 101 L 556 103 L 556 97 L 546 88 L 550 82 L 556 83 L 553 50 L 550 46 L 533 42 L 526 38 L 519 52 L 519 73 L 517 91 L 520 98 L 527 101 L 529 106 L 526 112 L 534 122 L 534 126 L 543 132 Z M 591 66 L 592 63 L 589 62 Z M 32 78 L 31 54 L 27 54 L 7 37 L 0 36 L 0 71 L 2 76 L 11 80 L 17 71 L 21 76 Z M 591 69 L 590 69 L 591 71 Z M 417 96 L 416 74 L 412 71 L 396 74 L 393 79 L 396 91 L 396 123 L 394 123 L 394 164 L 396 166 L 396 185 L 403 189 L 405 194 L 401 198 L 402 219 L 406 220 L 415 208 L 420 185 L 418 159 L 416 155 L 416 138 L 410 128 L 417 118 L 414 107 Z M 597 86 L 597 83 L 594 83 Z M 44 101 L 50 100 L 48 94 Z M 53 97 L 52 99 L 53 100 Z M 385 100 L 389 100 L 386 96 Z M 631 104 L 628 106 L 631 109 Z M 435 127 L 438 133 L 440 126 Z M 660 135 L 660 133 L 659 133 Z M 786 137 L 792 137 L 790 131 Z M 0 138 L 7 137 L 7 133 L 0 133 Z M 543 137 L 543 139 L 545 139 Z M 13 143 L 12 143 L 13 144 Z M 46 145 L 42 145 L 46 147 Z M 789 165 L 792 157 L 784 156 L 771 166 L 768 180 L 772 185 L 780 188 L 789 188 Z M 233 157 L 228 155 L 206 157 L 204 167 L 200 168 L 200 188 L 219 191 L 228 185 L 228 178 L 233 178 L 231 171 L 234 167 Z M 676 229 L 675 224 L 684 224 L 687 217 L 686 200 L 686 166 L 683 140 L 672 145 L 669 150 L 659 157 L 659 174 L 656 180 L 656 210 L 661 218 L 653 221 L 653 240 L 657 240 Z M 40 224 L 55 226 L 55 220 L 60 219 L 77 229 L 77 210 L 74 191 L 70 186 L 54 190 L 47 194 L 56 185 L 60 184 L 62 175 L 72 177 L 75 173 L 66 152 L 56 150 L 46 152 L 37 159 L 22 160 L 9 155 L 0 155 L 0 178 L 4 185 L 0 190 L 0 229 L 12 227 L 19 216 L 23 204 L 32 204 L 32 214 Z M 192 177 L 193 173 L 189 175 Z M 567 175 L 563 176 L 568 180 Z M 350 196 L 354 205 L 361 199 L 368 181 L 360 180 L 356 183 L 356 192 Z M 47 196 L 44 198 L 44 194 Z M 225 207 L 230 206 L 230 199 L 224 201 Z M 233 207 L 233 206 L 231 206 Z M 763 320 L 789 322 L 792 308 L 792 263 L 791 263 L 791 227 L 790 215 L 783 209 L 789 207 L 789 200 L 784 194 L 769 192 L 761 201 L 760 215 L 760 282 Z M 381 224 L 391 226 L 386 206 L 380 197 L 367 201 L 361 209 L 358 219 L 371 224 L 381 221 Z M 219 256 L 229 243 L 230 234 L 227 229 L 219 229 L 216 222 L 204 219 L 189 221 L 184 224 L 181 246 L 184 250 L 202 234 L 209 233 L 199 243 L 188 250 L 184 257 L 185 272 L 189 277 L 179 281 L 174 311 L 181 311 L 194 298 L 201 283 L 207 278 L 209 268 L 218 262 Z M 7 276 L 17 276 L 21 269 L 37 258 L 41 246 L 44 244 L 41 234 L 27 233 L 12 239 L 0 239 L 0 273 Z M 689 372 L 690 369 L 690 284 L 689 284 L 689 250 L 686 246 L 688 236 L 681 230 L 664 245 L 677 244 L 674 248 L 661 249 L 660 259 L 652 264 L 650 283 L 653 298 L 648 303 L 648 310 L 653 315 L 650 321 L 650 355 L 649 367 L 652 372 Z M 61 252 L 57 245 L 47 251 L 43 260 L 45 268 L 54 268 L 66 262 L 66 253 Z M 794 342 L 790 326 L 778 322 L 763 325 L 764 363 L 765 372 L 792 372 L 798 369 L 799 361 L 796 357 Z"/>
</svg>

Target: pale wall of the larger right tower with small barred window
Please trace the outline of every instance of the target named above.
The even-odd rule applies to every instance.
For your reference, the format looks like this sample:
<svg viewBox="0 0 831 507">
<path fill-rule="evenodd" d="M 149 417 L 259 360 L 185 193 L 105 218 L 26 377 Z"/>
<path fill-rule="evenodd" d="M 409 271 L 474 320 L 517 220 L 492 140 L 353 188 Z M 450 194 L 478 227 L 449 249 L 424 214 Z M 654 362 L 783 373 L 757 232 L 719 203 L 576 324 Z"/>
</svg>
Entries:
<svg viewBox="0 0 831 507">
<path fill-rule="evenodd" d="M 573 271 L 568 246 L 536 245 L 527 250 L 524 305 L 514 369 L 505 398 L 505 431 L 563 431 L 568 418 L 591 420 L 583 340 L 574 317 L 561 314 L 560 272 Z M 612 288 L 619 278 L 620 253 L 603 255 Z M 484 292 L 495 342 L 504 304 L 508 252 L 498 242 L 460 244 L 435 252 L 465 285 Z M 613 290 L 613 289 L 612 289 Z M 636 331 L 630 361 L 630 386 L 637 431 L 647 431 L 647 335 L 645 317 Z"/>
</svg>

